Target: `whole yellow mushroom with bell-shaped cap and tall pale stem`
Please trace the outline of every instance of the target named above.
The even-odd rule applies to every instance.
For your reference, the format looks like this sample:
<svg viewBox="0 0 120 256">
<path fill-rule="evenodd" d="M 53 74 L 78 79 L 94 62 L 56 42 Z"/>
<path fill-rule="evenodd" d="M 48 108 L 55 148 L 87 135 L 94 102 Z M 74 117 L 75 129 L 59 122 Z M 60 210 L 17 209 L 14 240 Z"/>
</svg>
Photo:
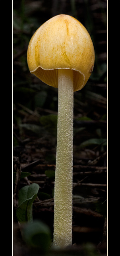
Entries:
<svg viewBox="0 0 120 256">
<path fill-rule="evenodd" d="M 85 86 L 94 62 L 94 46 L 86 28 L 65 14 L 40 26 L 27 50 L 30 72 L 58 88 L 53 245 L 60 248 L 72 244 L 74 91 Z"/>
</svg>

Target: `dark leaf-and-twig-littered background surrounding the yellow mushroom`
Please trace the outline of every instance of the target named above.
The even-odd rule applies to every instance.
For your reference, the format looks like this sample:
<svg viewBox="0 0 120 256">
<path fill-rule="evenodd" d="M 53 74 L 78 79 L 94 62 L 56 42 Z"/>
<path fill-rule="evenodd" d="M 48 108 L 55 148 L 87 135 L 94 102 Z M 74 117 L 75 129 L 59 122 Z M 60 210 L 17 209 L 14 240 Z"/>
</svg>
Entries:
<svg viewBox="0 0 120 256">
<path fill-rule="evenodd" d="M 55 170 L 58 91 L 30 74 L 27 47 L 37 28 L 58 14 L 77 18 L 87 28 L 95 48 L 93 73 L 85 87 L 74 92 L 73 243 L 91 243 L 97 253 L 105 256 L 106 0 L 13 1 L 13 167 L 15 172 L 19 159 L 21 170 L 31 172 L 30 184 L 37 182 L 39 192 L 54 198 L 54 179 L 48 178 L 45 171 Z M 19 189 L 27 184 L 21 179 Z M 40 198 L 43 205 L 39 208 L 33 203 L 33 219 L 44 221 L 53 233 L 54 199 L 47 207 L 45 199 Z"/>
</svg>

